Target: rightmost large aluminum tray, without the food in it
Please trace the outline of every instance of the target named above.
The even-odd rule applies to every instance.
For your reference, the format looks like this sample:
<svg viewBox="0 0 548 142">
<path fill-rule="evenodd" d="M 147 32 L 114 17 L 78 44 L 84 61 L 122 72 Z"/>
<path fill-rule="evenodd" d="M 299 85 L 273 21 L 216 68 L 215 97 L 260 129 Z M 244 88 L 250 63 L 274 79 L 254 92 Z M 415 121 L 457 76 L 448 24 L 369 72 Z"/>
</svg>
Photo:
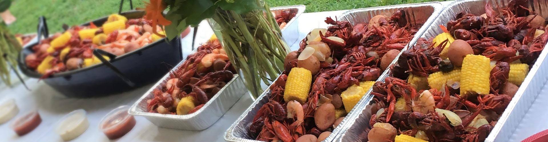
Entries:
<svg viewBox="0 0 548 142">
<path fill-rule="evenodd" d="M 423 35 L 420 35 L 420 37 L 428 39 L 442 33 L 442 30 L 438 25 L 446 25 L 448 21 L 455 19 L 456 14 L 462 11 L 474 15 L 485 13 L 484 5 L 487 2 L 492 4 L 493 8 L 496 8 L 496 5 L 502 7 L 510 1 L 473 0 L 452 2 L 443 9 L 441 14 L 439 14 L 436 20 L 428 27 L 427 31 Z M 529 1 L 529 9 L 532 9 L 542 17 L 548 17 L 548 3 L 545 1 L 531 0 Z M 547 46 L 545 46 L 545 48 L 546 47 Z M 525 113 L 527 113 L 530 105 L 533 104 L 536 96 L 539 95 L 541 88 L 546 83 L 548 78 L 548 75 L 545 75 L 548 74 L 548 65 L 546 65 L 548 64 L 548 60 L 545 59 L 546 54 L 548 54 L 548 52 L 541 52 L 539 58 L 529 70 L 529 74 L 485 141 L 509 140 L 519 122 L 523 119 Z M 397 58 L 399 58 L 399 56 Z M 393 61 L 392 64 L 395 63 L 395 61 Z M 384 81 L 384 79 L 390 75 L 390 71 L 391 70 L 387 70 L 387 72 L 383 73 L 379 80 Z M 335 138 L 335 141 L 363 141 L 367 138 L 367 132 L 369 132 L 370 129 L 369 119 L 372 115 L 370 112 L 372 106 L 370 104 L 373 103 L 373 95 L 369 95 L 370 92 L 371 91 L 367 92 L 367 97 L 362 98 L 362 100 L 358 102 L 359 107 L 355 107 L 355 110 L 358 108 L 356 111 L 360 113 L 354 113 L 350 116 L 349 122 L 346 123 L 344 129 L 341 130 L 341 133 Z"/>
</svg>

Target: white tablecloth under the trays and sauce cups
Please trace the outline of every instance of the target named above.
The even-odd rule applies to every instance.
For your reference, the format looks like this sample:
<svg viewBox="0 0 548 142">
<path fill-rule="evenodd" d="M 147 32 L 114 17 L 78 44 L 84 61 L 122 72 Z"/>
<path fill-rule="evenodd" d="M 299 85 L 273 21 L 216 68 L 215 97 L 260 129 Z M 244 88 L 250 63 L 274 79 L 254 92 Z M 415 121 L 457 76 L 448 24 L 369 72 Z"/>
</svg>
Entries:
<svg viewBox="0 0 548 142">
<path fill-rule="evenodd" d="M 299 17 L 300 38 L 305 37 L 313 28 L 327 27 L 323 22 L 327 16 L 338 16 L 346 10 L 327 11 L 320 13 L 305 13 Z M 192 32 L 191 32 L 192 33 Z M 196 44 L 203 43 L 213 34 L 207 22 L 202 22 L 198 29 Z M 191 35 L 183 39 L 183 47 L 189 47 Z M 288 43 L 292 50 L 299 48 L 300 40 L 295 43 Z M 195 45 L 198 46 L 198 45 Z M 190 48 L 184 48 L 184 54 L 189 54 Z M 133 91 L 116 94 L 101 98 L 76 99 L 61 96 L 52 87 L 44 84 L 37 79 L 26 78 L 26 83 L 31 91 L 27 91 L 21 84 L 16 84 L 12 88 L 0 85 L 0 100 L 2 98 L 14 98 L 18 104 L 20 113 L 24 115 L 32 109 L 38 109 L 42 116 L 42 123 L 32 132 L 18 137 L 10 128 L 10 123 L 0 125 L 0 141 L 62 141 L 61 138 L 53 132 L 55 123 L 67 113 L 76 109 L 84 109 L 88 113 L 90 126 L 82 135 L 72 141 L 109 141 L 102 132 L 99 131 L 99 121 L 114 108 L 120 105 L 132 105 L 136 99 L 149 90 L 151 85 L 137 88 Z M 545 111 L 548 104 L 548 87 L 543 87 L 541 94 L 532 104 L 531 108 L 512 134 L 510 141 L 521 141 L 534 133 L 548 129 L 548 111 Z M 144 117 L 136 116 L 135 127 L 124 137 L 113 141 L 225 141 L 224 133 L 227 128 L 237 119 L 237 117 L 253 103 L 249 94 L 244 94 L 232 108 L 219 119 L 213 126 L 203 131 L 181 131 L 176 129 L 159 128 L 146 120 Z M 17 116 L 16 116 L 17 117 Z"/>
</svg>

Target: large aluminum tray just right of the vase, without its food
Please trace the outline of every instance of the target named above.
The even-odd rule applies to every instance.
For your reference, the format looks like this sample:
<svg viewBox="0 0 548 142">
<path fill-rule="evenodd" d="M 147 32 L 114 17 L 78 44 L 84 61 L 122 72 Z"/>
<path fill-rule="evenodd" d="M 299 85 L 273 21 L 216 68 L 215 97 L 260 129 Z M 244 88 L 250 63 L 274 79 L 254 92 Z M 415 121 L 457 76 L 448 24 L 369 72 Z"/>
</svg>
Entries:
<svg viewBox="0 0 548 142">
<path fill-rule="evenodd" d="M 341 17 L 341 20 L 349 21 L 350 23 L 357 24 L 362 22 L 369 22 L 369 19 L 375 15 L 384 14 L 387 16 L 392 15 L 397 10 L 405 9 L 407 11 L 407 17 L 409 17 L 409 22 L 415 25 L 430 25 L 433 21 L 433 17 L 439 14 L 442 10 L 442 4 L 439 2 L 430 2 L 430 3 L 420 3 L 420 4 L 402 4 L 402 5 L 391 5 L 386 7 L 375 7 L 375 8 L 364 8 L 364 9 L 353 9 L 344 13 Z M 422 26 L 415 35 L 420 35 L 425 31 L 426 26 Z M 413 38 L 412 41 L 416 40 Z M 225 140 L 228 141 L 258 141 L 254 140 L 249 136 L 249 126 L 253 121 L 253 117 L 259 110 L 259 108 L 268 102 L 270 96 L 270 90 L 263 92 L 258 99 L 253 102 L 249 108 L 242 113 L 240 117 L 232 124 L 232 126 L 227 129 L 225 133 Z M 350 114 L 353 113 L 353 110 Z M 349 114 L 349 115 L 350 115 Z M 329 137 L 324 141 L 332 141 L 335 138 L 335 135 L 338 134 L 340 129 L 344 126 L 344 123 L 347 120 L 343 120 L 339 127 L 335 128 L 334 131 L 329 135 Z"/>
</svg>

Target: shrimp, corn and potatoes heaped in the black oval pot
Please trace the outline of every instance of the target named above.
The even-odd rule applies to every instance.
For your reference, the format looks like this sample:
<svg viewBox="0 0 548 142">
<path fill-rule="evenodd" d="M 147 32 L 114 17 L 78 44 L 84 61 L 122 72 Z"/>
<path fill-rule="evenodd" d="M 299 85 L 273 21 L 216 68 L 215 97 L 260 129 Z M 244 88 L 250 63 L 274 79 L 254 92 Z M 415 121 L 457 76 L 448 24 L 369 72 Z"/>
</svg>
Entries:
<svg viewBox="0 0 548 142">
<path fill-rule="evenodd" d="M 101 49 L 113 55 L 120 56 L 137 50 L 142 46 L 161 39 L 161 35 L 153 33 L 151 21 L 127 19 L 118 14 L 112 14 L 101 27 L 93 22 L 89 26 L 73 26 L 64 33 L 56 33 L 32 47 L 34 51 L 25 57 L 28 68 L 43 74 L 43 78 L 54 73 L 85 68 L 101 63 L 92 52 Z M 161 28 L 158 34 L 163 34 Z M 104 56 L 107 60 L 109 57 Z"/>
</svg>

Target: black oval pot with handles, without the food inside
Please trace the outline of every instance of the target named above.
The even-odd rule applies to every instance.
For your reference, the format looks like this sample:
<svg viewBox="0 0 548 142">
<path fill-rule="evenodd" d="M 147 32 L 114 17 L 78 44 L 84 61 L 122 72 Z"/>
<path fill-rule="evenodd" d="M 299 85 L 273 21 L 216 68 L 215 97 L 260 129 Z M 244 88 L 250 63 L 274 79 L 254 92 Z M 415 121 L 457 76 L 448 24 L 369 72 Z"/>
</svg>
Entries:
<svg viewBox="0 0 548 142">
<path fill-rule="evenodd" d="M 142 17 L 145 11 L 131 10 L 120 14 L 128 19 L 136 19 Z M 102 17 L 92 22 L 99 27 L 106 20 L 107 17 Z M 83 25 L 87 26 L 89 23 Z M 45 32 L 47 33 L 47 29 L 45 29 Z M 41 30 L 38 33 L 41 33 Z M 42 74 L 28 68 L 25 63 L 25 57 L 32 54 L 31 48 L 36 44 L 38 43 L 27 44 L 18 57 L 21 71 L 31 78 L 40 78 L 42 76 Z M 98 56 L 103 63 L 56 73 L 42 79 L 42 81 L 67 97 L 100 97 L 131 90 L 156 82 L 168 73 L 172 66 L 182 60 L 181 39 L 176 37 L 170 42 L 161 39 L 117 57 L 99 49 L 96 49 L 94 54 L 95 56 L 110 56 L 111 60 L 106 61 L 102 56 Z"/>
</svg>

